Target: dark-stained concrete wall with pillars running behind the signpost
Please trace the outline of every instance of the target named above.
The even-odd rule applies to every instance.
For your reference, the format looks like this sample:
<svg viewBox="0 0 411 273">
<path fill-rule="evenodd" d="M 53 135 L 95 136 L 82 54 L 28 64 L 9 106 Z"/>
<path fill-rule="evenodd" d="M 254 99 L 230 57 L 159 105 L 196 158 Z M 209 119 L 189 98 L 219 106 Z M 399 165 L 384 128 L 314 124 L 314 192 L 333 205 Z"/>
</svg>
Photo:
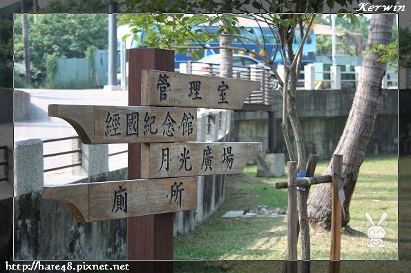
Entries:
<svg viewBox="0 0 411 273">
<path fill-rule="evenodd" d="M 207 116 L 212 117 L 208 119 Z M 233 111 L 200 112 L 198 121 L 198 141 L 226 141 L 233 124 Z M 77 143 L 73 143 L 73 148 L 77 148 Z M 75 183 L 127 179 L 127 168 L 108 171 L 107 145 L 82 144 L 82 150 L 84 165 L 74 168 L 73 172 L 84 174 L 84 179 Z M 126 259 L 126 219 L 77 223 L 66 205 L 41 198 L 44 185 L 42 152 L 39 139 L 15 143 L 14 258 Z M 174 235 L 188 232 L 207 220 L 224 201 L 224 194 L 224 175 L 199 176 L 198 209 L 175 213 Z M 5 205 L 10 207 L 10 203 Z M 10 217 L 11 214 L 1 216 L 1 223 L 10 221 Z M 0 243 L 10 245 L 10 240 Z"/>
</svg>

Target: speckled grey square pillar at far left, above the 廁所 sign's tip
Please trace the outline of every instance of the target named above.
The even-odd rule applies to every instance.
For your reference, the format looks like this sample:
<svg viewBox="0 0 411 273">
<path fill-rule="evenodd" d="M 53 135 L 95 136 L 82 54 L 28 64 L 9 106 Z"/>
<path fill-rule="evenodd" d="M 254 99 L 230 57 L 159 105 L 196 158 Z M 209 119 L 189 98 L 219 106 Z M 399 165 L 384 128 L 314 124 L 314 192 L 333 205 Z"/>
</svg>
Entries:
<svg viewBox="0 0 411 273">
<path fill-rule="evenodd" d="M 44 185 L 43 142 L 17 141 L 13 154 L 14 196 L 41 191 Z"/>
</svg>

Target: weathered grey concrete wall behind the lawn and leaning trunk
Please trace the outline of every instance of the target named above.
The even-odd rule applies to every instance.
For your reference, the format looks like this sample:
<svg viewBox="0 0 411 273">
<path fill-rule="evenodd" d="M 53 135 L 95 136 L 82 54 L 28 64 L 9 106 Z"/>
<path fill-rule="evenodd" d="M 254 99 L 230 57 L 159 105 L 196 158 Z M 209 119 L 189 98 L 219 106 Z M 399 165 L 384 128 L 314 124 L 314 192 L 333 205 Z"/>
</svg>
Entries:
<svg viewBox="0 0 411 273">
<path fill-rule="evenodd" d="M 355 90 L 298 91 L 296 107 L 307 154 L 317 154 L 321 159 L 329 159 L 343 132 L 345 121 L 351 109 Z M 282 97 L 275 97 L 277 152 L 287 152 L 280 130 L 282 119 Z M 396 153 L 398 124 L 397 90 L 383 90 L 379 114 L 374 126 L 374 134 L 368 145 L 368 154 Z M 235 113 L 234 141 L 260 141 L 262 151 L 268 148 L 267 112 Z M 291 133 L 291 128 L 289 131 Z M 253 163 L 255 161 L 252 161 Z"/>
</svg>

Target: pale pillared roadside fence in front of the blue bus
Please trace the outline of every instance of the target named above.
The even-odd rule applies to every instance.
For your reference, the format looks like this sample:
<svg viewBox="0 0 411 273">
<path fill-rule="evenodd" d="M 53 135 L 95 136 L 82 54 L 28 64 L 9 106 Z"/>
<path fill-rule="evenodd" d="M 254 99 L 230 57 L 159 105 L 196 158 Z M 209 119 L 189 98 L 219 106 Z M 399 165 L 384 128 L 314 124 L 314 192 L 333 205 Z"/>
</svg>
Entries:
<svg viewBox="0 0 411 273">
<path fill-rule="evenodd" d="M 278 65 L 277 71 L 280 77 L 284 76 L 283 65 Z M 219 77 L 220 65 L 189 61 L 187 64 L 182 63 L 180 65 L 180 72 Z M 297 89 L 339 90 L 341 88 L 356 88 L 359 74 L 361 74 L 361 66 L 327 65 L 323 63 L 305 65 L 304 70 L 300 71 Z M 233 65 L 233 77 L 261 81 L 261 90 L 252 92 L 247 97 L 246 103 L 270 104 L 273 99 L 273 90 L 278 89 L 278 81 L 271 70 L 259 65 L 250 65 L 249 67 Z M 383 77 L 382 88 L 396 89 L 397 87 L 398 76 L 394 72 L 388 71 Z"/>
</svg>

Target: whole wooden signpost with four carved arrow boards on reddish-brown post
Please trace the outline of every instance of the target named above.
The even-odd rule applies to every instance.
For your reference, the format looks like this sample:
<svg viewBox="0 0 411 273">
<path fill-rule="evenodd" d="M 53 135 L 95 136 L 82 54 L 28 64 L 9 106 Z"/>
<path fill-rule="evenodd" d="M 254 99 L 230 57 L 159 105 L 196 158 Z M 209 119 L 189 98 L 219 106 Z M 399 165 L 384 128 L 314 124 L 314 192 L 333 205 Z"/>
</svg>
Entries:
<svg viewBox="0 0 411 273">
<path fill-rule="evenodd" d="M 49 105 L 49 115 L 73 125 L 83 143 L 128 143 L 130 180 L 44 187 L 43 198 L 66 204 L 78 222 L 126 217 L 128 259 L 173 259 L 173 212 L 197 208 L 197 176 L 242 172 L 261 150 L 186 142 L 197 140 L 195 108 L 241 109 L 260 83 L 170 72 L 171 50 L 129 56 L 130 106 Z"/>
</svg>

